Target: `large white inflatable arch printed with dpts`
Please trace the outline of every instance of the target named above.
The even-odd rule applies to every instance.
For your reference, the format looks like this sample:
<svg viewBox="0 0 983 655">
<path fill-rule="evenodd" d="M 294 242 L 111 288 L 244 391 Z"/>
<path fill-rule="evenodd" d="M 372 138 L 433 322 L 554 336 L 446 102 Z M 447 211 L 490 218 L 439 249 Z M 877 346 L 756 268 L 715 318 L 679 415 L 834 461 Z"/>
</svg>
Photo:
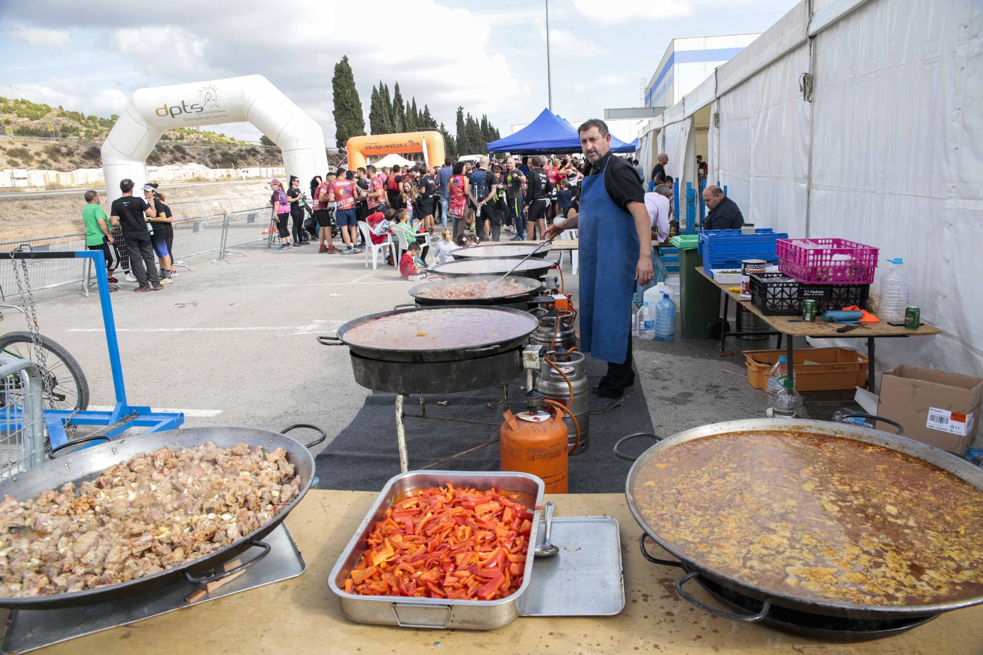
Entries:
<svg viewBox="0 0 983 655">
<path fill-rule="evenodd" d="M 120 197 L 120 181 L 126 178 L 139 193 L 146 183 L 146 157 L 164 130 L 244 121 L 280 147 L 286 174 L 300 177 L 302 188 L 327 171 L 320 126 L 261 75 L 138 89 L 102 144 L 109 201 Z"/>
</svg>

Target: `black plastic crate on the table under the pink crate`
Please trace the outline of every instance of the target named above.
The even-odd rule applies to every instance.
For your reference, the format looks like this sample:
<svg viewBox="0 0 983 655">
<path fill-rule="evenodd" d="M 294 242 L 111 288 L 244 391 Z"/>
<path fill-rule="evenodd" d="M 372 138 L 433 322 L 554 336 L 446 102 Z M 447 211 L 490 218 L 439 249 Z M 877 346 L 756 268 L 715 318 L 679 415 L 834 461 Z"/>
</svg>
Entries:
<svg viewBox="0 0 983 655">
<path fill-rule="evenodd" d="M 751 302 L 768 316 L 800 316 L 802 301 L 816 301 L 816 318 L 823 312 L 840 310 L 850 305 L 864 308 L 870 284 L 803 284 L 797 280 L 769 281 L 788 277 L 782 272 L 751 275 Z"/>
</svg>

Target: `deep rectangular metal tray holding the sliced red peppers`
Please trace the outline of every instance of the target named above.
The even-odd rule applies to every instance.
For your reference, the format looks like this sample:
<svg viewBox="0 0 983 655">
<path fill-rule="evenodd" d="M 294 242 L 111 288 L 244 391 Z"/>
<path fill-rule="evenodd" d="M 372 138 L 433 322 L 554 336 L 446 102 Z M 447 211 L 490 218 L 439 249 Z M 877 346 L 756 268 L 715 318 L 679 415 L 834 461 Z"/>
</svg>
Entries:
<svg viewBox="0 0 983 655">
<path fill-rule="evenodd" d="M 522 585 L 511 596 L 492 601 L 446 600 L 442 598 L 405 598 L 400 596 L 361 596 L 345 593 L 345 579 L 358 564 L 365 552 L 366 541 L 376 521 L 380 520 L 388 506 L 395 500 L 417 489 L 428 489 L 451 483 L 455 487 L 475 489 L 501 489 L 529 494 L 536 499 L 535 506 L 543 505 L 545 485 L 535 475 L 510 471 L 408 471 L 392 477 L 376 497 L 376 502 L 355 535 L 341 552 L 341 557 L 331 568 L 327 585 L 338 597 L 341 612 L 348 619 L 360 624 L 401 625 L 403 627 L 463 627 L 491 630 L 508 625 L 519 617 L 518 601 L 529 588 L 533 573 L 533 560 L 526 560 Z M 540 529 L 539 509 L 533 510 L 533 528 L 529 543 L 538 543 Z"/>
</svg>

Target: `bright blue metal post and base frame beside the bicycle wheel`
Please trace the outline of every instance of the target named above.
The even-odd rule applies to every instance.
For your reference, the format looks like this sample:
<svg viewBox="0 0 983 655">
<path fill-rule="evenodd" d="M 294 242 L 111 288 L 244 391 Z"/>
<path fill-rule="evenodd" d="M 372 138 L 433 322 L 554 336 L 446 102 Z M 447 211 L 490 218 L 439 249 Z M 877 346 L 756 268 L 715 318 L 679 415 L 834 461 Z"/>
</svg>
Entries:
<svg viewBox="0 0 983 655">
<path fill-rule="evenodd" d="M 104 426 L 107 430 L 99 433 L 109 438 L 116 437 L 131 428 L 147 428 L 144 433 L 173 430 L 184 423 L 181 412 L 153 412 L 149 407 L 134 406 L 127 401 L 126 385 L 123 382 L 123 364 L 120 360 L 119 341 L 116 339 L 116 322 L 110 299 L 109 278 L 106 275 L 106 261 L 102 251 L 62 251 L 62 252 L 0 252 L 0 260 L 55 260 L 90 259 L 95 268 L 96 285 L 99 289 L 99 305 L 102 309 L 102 324 L 106 331 L 106 348 L 109 351 L 109 368 L 113 376 L 113 391 L 116 404 L 111 411 L 45 409 L 44 422 L 48 429 L 51 447 L 68 443 L 65 431 L 67 425 Z M 83 447 L 94 446 L 87 444 Z"/>
</svg>

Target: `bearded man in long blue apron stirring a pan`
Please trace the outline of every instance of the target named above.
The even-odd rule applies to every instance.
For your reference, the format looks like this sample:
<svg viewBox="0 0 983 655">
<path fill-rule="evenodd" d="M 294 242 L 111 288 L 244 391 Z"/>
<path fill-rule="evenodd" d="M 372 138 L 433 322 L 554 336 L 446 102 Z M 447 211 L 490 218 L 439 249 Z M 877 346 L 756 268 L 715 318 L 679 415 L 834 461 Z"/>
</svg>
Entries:
<svg viewBox="0 0 983 655">
<path fill-rule="evenodd" d="M 580 212 L 553 222 L 546 236 L 580 230 L 580 349 L 607 362 L 590 406 L 591 414 L 602 414 L 622 404 L 635 384 L 631 294 L 636 279 L 644 285 L 653 277 L 652 223 L 635 169 L 611 154 L 607 124 L 592 119 L 578 133 L 589 163 Z"/>
</svg>

